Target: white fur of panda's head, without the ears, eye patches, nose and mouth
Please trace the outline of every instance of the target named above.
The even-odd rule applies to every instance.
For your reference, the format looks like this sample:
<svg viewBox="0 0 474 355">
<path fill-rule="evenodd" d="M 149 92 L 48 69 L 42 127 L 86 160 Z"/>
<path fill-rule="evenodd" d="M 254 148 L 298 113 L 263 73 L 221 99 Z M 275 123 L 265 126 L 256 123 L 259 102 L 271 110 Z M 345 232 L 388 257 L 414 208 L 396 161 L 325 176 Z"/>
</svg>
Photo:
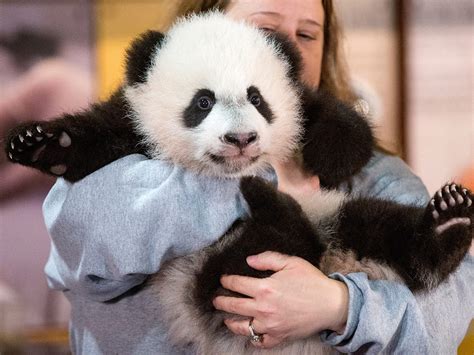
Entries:
<svg viewBox="0 0 474 355">
<path fill-rule="evenodd" d="M 178 22 L 160 46 L 145 83 L 128 87 L 126 97 L 155 157 L 212 176 L 242 176 L 255 173 L 269 158 L 286 159 L 299 141 L 300 92 L 290 82 L 289 70 L 278 45 L 257 28 L 211 13 Z M 272 124 L 247 100 L 250 86 L 271 102 Z M 200 88 L 215 92 L 216 104 L 199 126 L 184 129 L 183 110 Z M 256 163 L 237 161 L 229 169 L 209 159 L 209 153 L 226 149 L 220 139 L 224 134 L 248 131 L 259 135 L 249 152 L 260 156 Z"/>
</svg>

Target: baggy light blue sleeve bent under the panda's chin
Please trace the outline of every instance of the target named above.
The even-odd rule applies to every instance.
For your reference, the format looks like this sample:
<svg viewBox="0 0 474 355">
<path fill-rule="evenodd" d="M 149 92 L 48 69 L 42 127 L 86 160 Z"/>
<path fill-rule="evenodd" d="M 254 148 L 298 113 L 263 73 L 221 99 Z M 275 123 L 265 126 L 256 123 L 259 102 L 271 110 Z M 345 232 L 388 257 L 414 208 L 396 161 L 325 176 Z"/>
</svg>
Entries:
<svg viewBox="0 0 474 355">
<path fill-rule="evenodd" d="M 96 301 L 141 284 L 167 259 L 217 240 L 246 213 L 239 180 L 131 155 L 76 183 L 58 179 L 43 213 L 51 287 Z"/>
</svg>

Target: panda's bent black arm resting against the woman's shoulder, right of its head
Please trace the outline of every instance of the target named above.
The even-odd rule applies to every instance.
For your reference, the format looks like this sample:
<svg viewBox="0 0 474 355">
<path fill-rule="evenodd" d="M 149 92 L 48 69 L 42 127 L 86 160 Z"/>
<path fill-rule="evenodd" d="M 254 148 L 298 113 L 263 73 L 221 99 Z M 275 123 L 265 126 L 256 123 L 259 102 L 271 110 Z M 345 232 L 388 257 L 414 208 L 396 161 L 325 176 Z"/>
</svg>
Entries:
<svg viewBox="0 0 474 355">
<path fill-rule="evenodd" d="M 303 161 L 324 187 L 337 187 L 372 157 L 372 129 L 361 115 L 325 93 L 304 95 Z"/>
</svg>

